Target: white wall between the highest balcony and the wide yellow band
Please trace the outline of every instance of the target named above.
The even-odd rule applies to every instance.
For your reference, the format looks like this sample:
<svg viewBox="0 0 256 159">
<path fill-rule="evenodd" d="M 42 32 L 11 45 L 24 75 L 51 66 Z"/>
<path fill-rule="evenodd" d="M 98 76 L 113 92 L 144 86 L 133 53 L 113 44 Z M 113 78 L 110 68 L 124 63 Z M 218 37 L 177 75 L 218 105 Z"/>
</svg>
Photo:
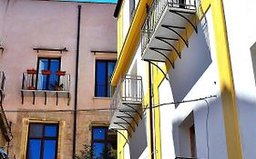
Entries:
<svg viewBox="0 0 256 159">
<path fill-rule="evenodd" d="M 189 48 L 182 50 L 181 59 L 175 62 L 175 69 L 169 70 L 169 81 L 165 80 L 159 86 L 159 102 L 178 102 L 210 95 L 218 95 L 218 98 L 160 107 L 162 158 L 175 155 L 189 157 L 190 150 L 189 147 L 184 147 L 186 136 L 182 136 L 180 124 L 192 111 L 197 157 L 207 158 L 209 155 L 210 159 L 227 158 L 219 74 L 209 10 L 199 25 L 199 33 L 191 35 Z M 171 144 L 175 145 L 175 149 Z"/>
</svg>

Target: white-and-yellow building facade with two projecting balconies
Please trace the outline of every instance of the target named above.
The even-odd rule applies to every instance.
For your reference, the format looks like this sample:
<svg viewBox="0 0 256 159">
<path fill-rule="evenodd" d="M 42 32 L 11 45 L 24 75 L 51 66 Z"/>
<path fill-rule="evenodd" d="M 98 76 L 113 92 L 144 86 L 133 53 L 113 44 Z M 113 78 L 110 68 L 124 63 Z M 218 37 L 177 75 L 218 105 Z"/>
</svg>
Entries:
<svg viewBox="0 0 256 159">
<path fill-rule="evenodd" d="M 254 158 L 253 5 L 118 0 L 119 159 Z"/>
</svg>

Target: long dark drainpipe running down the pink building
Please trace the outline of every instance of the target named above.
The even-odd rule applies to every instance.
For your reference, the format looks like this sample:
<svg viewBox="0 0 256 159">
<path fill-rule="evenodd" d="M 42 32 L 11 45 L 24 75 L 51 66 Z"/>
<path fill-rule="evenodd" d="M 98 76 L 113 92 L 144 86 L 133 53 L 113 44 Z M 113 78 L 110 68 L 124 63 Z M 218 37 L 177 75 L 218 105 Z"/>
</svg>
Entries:
<svg viewBox="0 0 256 159">
<path fill-rule="evenodd" d="M 73 159 L 76 159 L 76 144 L 77 144 L 77 87 L 78 87 L 78 68 L 79 68 L 79 46 L 80 46 L 80 20 L 81 20 L 81 5 L 77 5 L 77 58 L 76 58 L 76 85 L 75 85 L 75 104 L 74 104 L 74 125 L 73 125 Z"/>
</svg>

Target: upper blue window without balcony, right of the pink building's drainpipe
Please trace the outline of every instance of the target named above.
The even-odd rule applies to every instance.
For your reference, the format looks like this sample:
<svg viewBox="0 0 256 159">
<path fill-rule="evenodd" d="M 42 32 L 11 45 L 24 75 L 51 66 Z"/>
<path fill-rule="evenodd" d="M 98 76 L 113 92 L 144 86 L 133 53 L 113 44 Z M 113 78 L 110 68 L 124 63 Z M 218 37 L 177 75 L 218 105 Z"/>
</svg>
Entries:
<svg viewBox="0 0 256 159">
<path fill-rule="evenodd" d="M 110 97 L 110 78 L 113 74 L 117 61 L 97 60 L 96 61 L 96 82 L 95 96 Z"/>
</svg>

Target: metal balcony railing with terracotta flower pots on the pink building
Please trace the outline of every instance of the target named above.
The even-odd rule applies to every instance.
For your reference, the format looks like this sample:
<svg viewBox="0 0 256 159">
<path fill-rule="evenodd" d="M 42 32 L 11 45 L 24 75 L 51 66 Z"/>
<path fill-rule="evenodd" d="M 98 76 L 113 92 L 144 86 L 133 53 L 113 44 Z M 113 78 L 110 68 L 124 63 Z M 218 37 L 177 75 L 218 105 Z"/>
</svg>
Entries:
<svg viewBox="0 0 256 159">
<path fill-rule="evenodd" d="M 27 74 L 22 75 L 23 90 L 48 90 L 48 91 L 69 91 L 70 75 L 43 75 Z"/>
</svg>

